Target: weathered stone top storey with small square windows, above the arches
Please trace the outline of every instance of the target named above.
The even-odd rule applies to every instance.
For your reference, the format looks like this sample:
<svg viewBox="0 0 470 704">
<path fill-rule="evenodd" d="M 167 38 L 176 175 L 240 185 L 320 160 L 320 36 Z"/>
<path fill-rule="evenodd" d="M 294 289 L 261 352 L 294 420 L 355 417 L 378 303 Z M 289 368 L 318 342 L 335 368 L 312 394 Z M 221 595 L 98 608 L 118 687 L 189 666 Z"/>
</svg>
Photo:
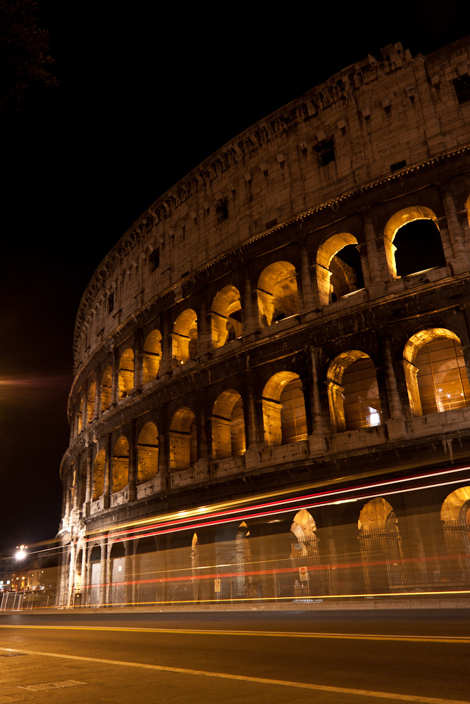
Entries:
<svg viewBox="0 0 470 704">
<path fill-rule="evenodd" d="M 345 68 L 238 135 L 161 196 L 99 265 L 80 304 L 75 368 L 144 304 L 266 230 L 470 142 L 466 40 L 400 44 Z M 321 165 L 322 144 L 334 161 Z M 159 251 L 154 268 L 151 253 Z M 176 294 L 178 295 L 178 294 Z M 109 297 L 113 296 L 112 310 Z"/>
</svg>

